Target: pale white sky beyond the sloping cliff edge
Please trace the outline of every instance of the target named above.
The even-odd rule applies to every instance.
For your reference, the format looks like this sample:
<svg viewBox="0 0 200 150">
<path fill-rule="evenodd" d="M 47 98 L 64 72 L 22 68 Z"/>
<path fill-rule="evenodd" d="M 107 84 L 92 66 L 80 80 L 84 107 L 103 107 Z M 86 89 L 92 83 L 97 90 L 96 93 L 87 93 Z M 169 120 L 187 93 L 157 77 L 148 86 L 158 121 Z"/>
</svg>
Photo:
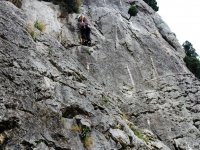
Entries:
<svg viewBox="0 0 200 150">
<path fill-rule="evenodd" d="M 156 0 L 157 12 L 182 45 L 192 43 L 200 55 L 200 0 Z"/>
</svg>

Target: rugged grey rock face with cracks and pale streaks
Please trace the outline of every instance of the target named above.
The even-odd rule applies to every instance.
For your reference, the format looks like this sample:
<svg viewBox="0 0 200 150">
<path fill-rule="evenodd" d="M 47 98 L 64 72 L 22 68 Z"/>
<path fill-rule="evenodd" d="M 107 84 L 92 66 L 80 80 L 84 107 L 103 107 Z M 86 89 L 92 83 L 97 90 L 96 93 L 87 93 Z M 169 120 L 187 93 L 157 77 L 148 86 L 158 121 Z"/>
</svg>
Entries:
<svg viewBox="0 0 200 150">
<path fill-rule="evenodd" d="M 199 150 L 200 82 L 142 0 L 84 0 L 94 46 L 59 5 L 0 1 L 0 149 Z M 27 26 L 36 20 L 45 32 Z"/>
</svg>

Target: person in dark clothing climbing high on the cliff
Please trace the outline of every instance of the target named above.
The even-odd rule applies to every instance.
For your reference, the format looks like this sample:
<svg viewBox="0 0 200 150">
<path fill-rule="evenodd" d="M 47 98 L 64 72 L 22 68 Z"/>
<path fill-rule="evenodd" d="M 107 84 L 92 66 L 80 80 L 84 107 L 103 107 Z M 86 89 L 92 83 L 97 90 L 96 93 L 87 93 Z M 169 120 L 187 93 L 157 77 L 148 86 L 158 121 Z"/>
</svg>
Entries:
<svg viewBox="0 0 200 150">
<path fill-rule="evenodd" d="M 81 15 L 78 19 L 78 28 L 80 31 L 80 42 L 83 45 L 90 46 L 91 45 L 91 38 L 90 33 L 91 29 L 85 16 Z"/>
</svg>

